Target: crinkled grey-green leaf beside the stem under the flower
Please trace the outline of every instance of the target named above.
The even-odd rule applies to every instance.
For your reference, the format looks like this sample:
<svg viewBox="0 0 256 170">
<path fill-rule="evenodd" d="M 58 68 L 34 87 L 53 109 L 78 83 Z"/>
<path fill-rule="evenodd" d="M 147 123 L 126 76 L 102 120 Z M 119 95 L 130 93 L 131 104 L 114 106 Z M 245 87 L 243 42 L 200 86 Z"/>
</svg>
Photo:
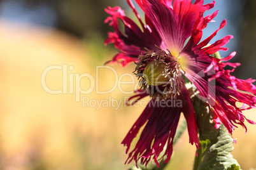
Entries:
<svg viewBox="0 0 256 170">
<path fill-rule="evenodd" d="M 195 159 L 194 170 L 240 169 L 238 162 L 232 157 L 234 141 L 223 124 L 215 129 L 214 113 L 203 101 L 192 98 L 197 115 L 200 148 Z"/>
</svg>

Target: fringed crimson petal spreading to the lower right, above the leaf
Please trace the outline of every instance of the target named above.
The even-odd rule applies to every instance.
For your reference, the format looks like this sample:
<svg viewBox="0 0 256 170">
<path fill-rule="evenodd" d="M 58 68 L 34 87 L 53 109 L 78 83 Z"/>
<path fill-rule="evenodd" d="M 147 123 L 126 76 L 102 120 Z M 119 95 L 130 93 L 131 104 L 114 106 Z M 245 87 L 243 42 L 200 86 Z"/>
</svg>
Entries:
<svg viewBox="0 0 256 170">
<path fill-rule="evenodd" d="M 256 97 L 241 91 L 256 94 L 252 80 L 236 79 L 230 75 L 232 70 L 224 70 L 224 64 L 220 59 L 209 57 L 203 50 L 194 55 L 191 52 L 187 58 L 189 66 L 185 69 L 185 75 L 200 91 L 201 98 L 208 101 L 215 111 L 216 127 L 222 122 L 231 134 L 236 127 L 235 124 L 240 124 L 246 129 L 244 122 L 247 119 L 242 111 L 256 107 Z M 212 63 L 215 67 L 209 67 Z M 237 107 L 237 102 L 245 103 L 247 107 Z M 253 121 L 248 122 L 254 124 Z"/>
</svg>

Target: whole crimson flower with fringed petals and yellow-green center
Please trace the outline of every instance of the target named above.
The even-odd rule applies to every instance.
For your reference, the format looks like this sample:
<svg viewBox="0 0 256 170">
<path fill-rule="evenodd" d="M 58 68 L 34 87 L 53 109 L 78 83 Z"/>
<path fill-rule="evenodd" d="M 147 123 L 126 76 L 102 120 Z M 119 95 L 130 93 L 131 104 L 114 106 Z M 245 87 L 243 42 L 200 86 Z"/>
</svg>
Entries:
<svg viewBox="0 0 256 170">
<path fill-rule="evenodd" d="M 151 98 L 122 141 L 128 153 L 132 140 L 144 127 L 136 146 L 129 152 L 127 162 L 135 160 L 138 163 L 140 159 L 141 164 L 148 164 L 152 159 L 159 166 L 161 152 L 167 156 L 165 162 L 168 162 L 181 112 L 187 120 L 189 142 L 199 147 L 196 115 L 183 76 L 196 86 L 198 97 L 215 112 L 216 128 L 223 123 L 232 134 L 236 124 L 246 128 L 245 120 L 255 124 L 242 113 L 256 107 L 254 80 L 241 80 L 231 75 L 239 66 L 239 63 L 227 62 L 236 55 L 235 52 L 223 59 L 214 57 L 220 50 L 227 51 L 224 45 L 232 36 L 209 44 L 226 21 L 210 37 L 201 41 L 203 29 L 213 21 L 218 11 L 208 16 L 203 16 L 203 13 L 213 8 L 215 1 L 209 4 L 203 4 L 203 0 L 196 0 L 193 4 L 192 0 L 135 1 L 145 13 L 145 23 L 132 1 L 127 0 L 127 3 L 138 18 L 140 27 L 118 6 L 106 9 L 110 16 L 105 20 L 114 29 L 108 33 L 105 44 L 113 43 L 120 51 L 107 63 L 117 62 L 122 66 L 136 63 L 134 74 L 139 78 L 141 89 L 129 99 L 134 100 L 131 104 L 148 95 Z M 124 32 L 120 30 L 118 20 L 124 24 Z M 225 70 L 226 65 L 234 69 Z M 237 102 L 244 103 L 243 107 L 238 107 Z"/>
</svg>

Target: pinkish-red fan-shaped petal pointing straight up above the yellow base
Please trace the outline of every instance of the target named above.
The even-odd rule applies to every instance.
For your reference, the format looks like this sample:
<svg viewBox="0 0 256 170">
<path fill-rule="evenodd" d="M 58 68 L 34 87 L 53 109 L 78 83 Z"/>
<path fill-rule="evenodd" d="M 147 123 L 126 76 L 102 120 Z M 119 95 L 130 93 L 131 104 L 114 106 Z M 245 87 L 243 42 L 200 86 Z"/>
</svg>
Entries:
<svg viewBox="0 0 256 170">
<path fill-rule="evenodd" d="M 203 1 L 172 1 L 141 0 L 136 1 L 145 14 L 152 20 L 153 25 L 170 51 L 181 51 L 187 38 L 191 36 L 198 16 L 213 8 L 214 3 L 203 5 Z"/>
</svg>

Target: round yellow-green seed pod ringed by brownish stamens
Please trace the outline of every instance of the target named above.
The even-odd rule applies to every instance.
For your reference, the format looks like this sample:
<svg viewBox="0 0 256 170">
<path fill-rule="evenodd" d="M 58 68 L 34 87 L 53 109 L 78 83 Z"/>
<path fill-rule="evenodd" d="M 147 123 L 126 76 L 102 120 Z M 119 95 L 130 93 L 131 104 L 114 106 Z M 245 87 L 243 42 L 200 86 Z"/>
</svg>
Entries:
<svg viewBox="0 0 256 170">
<path fill-rule="evenodd" d="M 139 55 L 139 62 L 134 70 L 140 88 L 148 90 L 150 97 L 156 100 L 180 95 L 183 70 L 179 58 L 162 49 L 157 52 L 146 50 L 144 55 Z"/>
</svg>

